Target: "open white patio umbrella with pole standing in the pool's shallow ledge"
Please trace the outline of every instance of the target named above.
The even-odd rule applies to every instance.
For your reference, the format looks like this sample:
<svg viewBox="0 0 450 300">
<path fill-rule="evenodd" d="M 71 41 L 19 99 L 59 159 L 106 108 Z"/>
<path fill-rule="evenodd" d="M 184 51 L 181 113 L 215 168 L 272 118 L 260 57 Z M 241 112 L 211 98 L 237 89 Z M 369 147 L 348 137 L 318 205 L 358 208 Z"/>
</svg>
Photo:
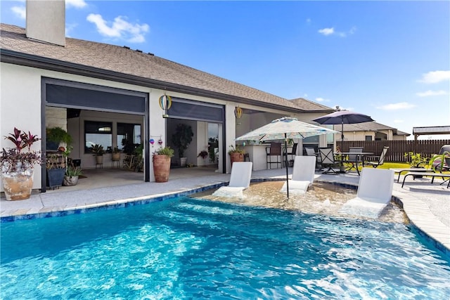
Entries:
<svg viewBox="0 0 450 300">
<path fill-rule="evenodd" d="M 289 198 L 289 183 L 288 183 L 288 155 L 286 155 L 288 138 L 308 138 L 309 136 L 319 136 L 327 133 L 339 133 L 331 129 L 326 129 L 321 126 L 300 122 L 296 118 L 283 117 L 275 119 L 258 129 L 245 133 L 243 136 L 235 138 L 235 141 L 275 141 L 284 140 L 284 150 L 286 157 L 286 187 Z"/>
</svg>

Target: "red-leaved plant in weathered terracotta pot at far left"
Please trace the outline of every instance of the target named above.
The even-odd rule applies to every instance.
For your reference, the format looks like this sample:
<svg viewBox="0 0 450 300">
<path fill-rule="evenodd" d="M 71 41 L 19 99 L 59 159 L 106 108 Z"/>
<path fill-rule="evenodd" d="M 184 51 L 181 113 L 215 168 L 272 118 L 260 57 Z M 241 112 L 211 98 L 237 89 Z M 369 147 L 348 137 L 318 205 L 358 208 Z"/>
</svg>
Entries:
<svg viewBox="0 0 450 300">
<path fill-rule="evenodd" d="M 40 152 L 31 150 L 31 147 L 40 138 L 17 128 L 5 138 L 15 145 L 15 148 L 1 150 L 1 178 L 6 200 L 28 199 L 33 188 L 34 164 L 41 163 Z"/>
</svg>

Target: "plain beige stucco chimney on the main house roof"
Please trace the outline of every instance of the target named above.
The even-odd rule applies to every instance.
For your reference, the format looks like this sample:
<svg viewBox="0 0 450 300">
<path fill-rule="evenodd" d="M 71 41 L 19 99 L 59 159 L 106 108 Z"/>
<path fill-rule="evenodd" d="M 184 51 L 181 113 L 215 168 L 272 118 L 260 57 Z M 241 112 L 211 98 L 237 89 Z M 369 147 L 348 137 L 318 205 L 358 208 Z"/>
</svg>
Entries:
<svg viewBox="0 0 450 300">
<path fill-rule="evenodd" d="M 65 46 L 65 0 L 27 0 L 26 35 Z"/>
</svg>

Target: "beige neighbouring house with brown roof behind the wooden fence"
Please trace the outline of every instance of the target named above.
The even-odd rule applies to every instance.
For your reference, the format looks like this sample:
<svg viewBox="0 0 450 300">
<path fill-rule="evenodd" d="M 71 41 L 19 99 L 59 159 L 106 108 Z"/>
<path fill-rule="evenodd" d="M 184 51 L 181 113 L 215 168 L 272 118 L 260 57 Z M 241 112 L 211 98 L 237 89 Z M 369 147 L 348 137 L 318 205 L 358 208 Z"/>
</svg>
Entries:
<svg viewBox="0 0 450 300">
<path fill-rule="evenodd" d="M 335 131 L 342 131 L 342 125 L 335 125 Z M 344 141 L 406 141 L 411 134 L 377 122 L 344 124 Z M 340 140 L 340 134 L 335 135 Z"/>
</svg>

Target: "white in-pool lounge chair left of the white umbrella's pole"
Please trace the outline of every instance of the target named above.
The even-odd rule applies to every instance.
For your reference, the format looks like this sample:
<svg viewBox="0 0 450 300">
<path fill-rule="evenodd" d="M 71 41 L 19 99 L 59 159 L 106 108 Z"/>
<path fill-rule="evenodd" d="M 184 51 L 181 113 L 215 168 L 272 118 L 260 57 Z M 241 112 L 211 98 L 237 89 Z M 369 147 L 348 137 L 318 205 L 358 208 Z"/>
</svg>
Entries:
<svg viewBox="0 0 450 300">
<path fill-rule="evenodd" d="M 220 187 L 212 195 L 243 198 L 243 190 L 250 186 L 252 167 L 252 162 L 233 162 L 229 185 Z"/>
</svg>

